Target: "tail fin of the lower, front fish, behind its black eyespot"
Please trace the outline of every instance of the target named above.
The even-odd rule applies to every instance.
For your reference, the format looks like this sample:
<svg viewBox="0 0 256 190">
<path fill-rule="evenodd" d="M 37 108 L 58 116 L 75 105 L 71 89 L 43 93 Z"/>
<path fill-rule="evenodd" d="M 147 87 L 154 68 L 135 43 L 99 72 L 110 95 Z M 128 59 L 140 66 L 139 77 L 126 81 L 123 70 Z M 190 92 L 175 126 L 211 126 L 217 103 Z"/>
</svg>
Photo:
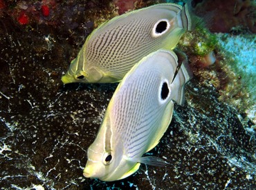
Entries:
<svg viewBox="0 0 256 190">
<path fill-rule="evenodd" d="M 192 78 L 192 72 L 188 65 L 188 58 L 183 52 L 175 51 L 178 57 L 179 65 L 176 68 L 174 79 L 172 80 L 171 89 L 173 100 L 179 105 L 183 105 L 185 101 L 185 83 Z"/>
</svg>

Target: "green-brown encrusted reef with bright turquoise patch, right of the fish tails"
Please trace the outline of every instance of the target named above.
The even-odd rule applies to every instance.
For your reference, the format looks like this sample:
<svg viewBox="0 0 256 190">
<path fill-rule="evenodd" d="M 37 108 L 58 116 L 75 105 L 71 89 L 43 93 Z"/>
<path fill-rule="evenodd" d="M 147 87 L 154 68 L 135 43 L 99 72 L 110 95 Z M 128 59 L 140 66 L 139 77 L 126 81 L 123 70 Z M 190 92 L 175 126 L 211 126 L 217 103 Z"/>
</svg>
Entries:
<svg viewBox="0 0 256 190">
<path fill-rule="evenodd" d="M 254 112 L 255 34 L 212 34 L 202 27 L 186 32 L 177 45 L 188 55 L 194 76 L 203 85 L 216 87 L 221 95 L 219 100 L 241 113 Z M 250 114 L 254 123 L 255 118 Z"/>
</svg>

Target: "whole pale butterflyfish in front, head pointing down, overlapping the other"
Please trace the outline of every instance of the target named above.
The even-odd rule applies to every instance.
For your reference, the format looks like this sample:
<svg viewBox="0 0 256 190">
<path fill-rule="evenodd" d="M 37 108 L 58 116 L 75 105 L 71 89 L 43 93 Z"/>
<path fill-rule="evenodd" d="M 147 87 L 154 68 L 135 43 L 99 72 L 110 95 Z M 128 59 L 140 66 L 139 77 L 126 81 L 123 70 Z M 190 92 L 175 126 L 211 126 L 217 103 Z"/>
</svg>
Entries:
<svg viewBox="0 0 256 190">
<path fill-rule="evenodd" d="M 179 95 L 183 96 L 181 90 L 190 74 L 184 65 L 177 72 L 177 65 L 174 52 L 158 50 L 125 75 L 87 151 L 86 178 L 120 180 L 136 172 L 140 163 L 163 165 L 163 160 L 143 154 L 158 145 L 170 125 L 172 99 L 183 104 Z"/>
</svg>

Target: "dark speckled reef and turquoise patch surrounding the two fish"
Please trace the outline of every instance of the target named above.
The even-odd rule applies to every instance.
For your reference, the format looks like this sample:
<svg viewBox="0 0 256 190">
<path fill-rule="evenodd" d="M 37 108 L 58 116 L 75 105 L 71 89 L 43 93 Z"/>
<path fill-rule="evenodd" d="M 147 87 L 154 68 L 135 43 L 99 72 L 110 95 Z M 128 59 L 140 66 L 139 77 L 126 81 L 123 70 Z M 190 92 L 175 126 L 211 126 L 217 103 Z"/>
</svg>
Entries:
<svg viewBox="0 0 256 190">
<path fill-rule="evenodd" d="M 141 165 L 84 178 L 86 150 L 117 84 L 63 85 L 86 36 L 127 10 L 167 1 L 0 0 L 1 189 L 256 189 L 255 1 L 192 1 L 205 25 L 182 37 L 194 78 Z M 186 1 L 168 1 L 183 5 Z"/>
</svg>

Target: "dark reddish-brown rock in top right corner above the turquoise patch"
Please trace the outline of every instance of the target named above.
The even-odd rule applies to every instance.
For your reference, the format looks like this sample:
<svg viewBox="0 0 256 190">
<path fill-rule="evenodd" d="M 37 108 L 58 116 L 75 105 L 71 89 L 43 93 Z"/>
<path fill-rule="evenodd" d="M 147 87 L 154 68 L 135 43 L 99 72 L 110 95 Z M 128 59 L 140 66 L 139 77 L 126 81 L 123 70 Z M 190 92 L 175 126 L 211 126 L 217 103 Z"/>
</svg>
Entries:
<svg viewBox="0 0 256 190">
<path fill-rule="evenodd" d="M 230 32 L 244 28 L 256 32 L 256 3 L 254 0 L 192 0 L 192 8 L 204 17 L 211 32 Z"/>
</svg>

